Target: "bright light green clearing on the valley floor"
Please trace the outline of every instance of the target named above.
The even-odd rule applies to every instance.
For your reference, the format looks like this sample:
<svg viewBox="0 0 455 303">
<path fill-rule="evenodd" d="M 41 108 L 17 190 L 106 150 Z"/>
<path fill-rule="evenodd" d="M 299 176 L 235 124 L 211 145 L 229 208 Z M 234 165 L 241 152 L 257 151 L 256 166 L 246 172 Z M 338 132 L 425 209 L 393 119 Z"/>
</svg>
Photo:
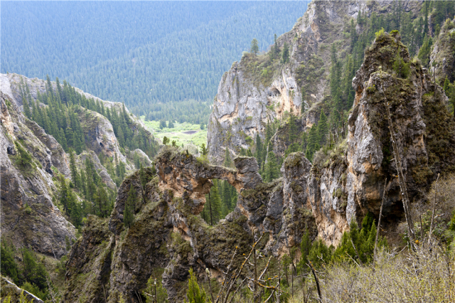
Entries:
<svg viewBox="0 0 455 303">
<path fill-rule="evenodd" d="M 200 147 L 202 144 L 207 145 L 207 128 L 200 129 L 200 124 L 191 124 L 188 122 L 178 123 L 174 122 L 173 128 L 159 129 L 159 121 L 144 121 L 144 116 L 141 116 L 141 120 L 149 131 L 154 134 L 155 137 L 159 138 L 163 143 L 163 138 L 166 136 L 169 138 L 171 143 L 176 140 L 178 146 L 186 146 L 187 144 L 193 143 Z M 166 124 L 168 122 L 166 121 Z M 193 134 L 186 134 L 186 132 L 196 131 Z"/>
</svg>

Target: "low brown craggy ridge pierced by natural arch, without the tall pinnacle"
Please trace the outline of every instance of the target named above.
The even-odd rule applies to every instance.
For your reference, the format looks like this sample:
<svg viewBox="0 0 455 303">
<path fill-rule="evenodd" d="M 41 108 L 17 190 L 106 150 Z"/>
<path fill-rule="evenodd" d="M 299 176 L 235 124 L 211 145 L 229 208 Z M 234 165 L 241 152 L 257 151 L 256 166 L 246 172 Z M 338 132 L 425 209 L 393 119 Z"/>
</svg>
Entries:
<svg viewBox="0 0 455 303">
<path fill-rule="evenodd" d="M 155 167 L 144 170 L 142 182 L 139 171 L 124 180 L 109 222 L 90 217 L 68 259 L 65 299 L 72 301 L 83 292 L 87 302 L 97 302 L 104 287 L 108 302 L 120 297 L 139 302 L 137 294 L 161 269 L 168 299 L 183 302 L 190 267 L 199 274 L 207 267 L 219 279 L 236 246 L 237 253 L 250 249 L 253 233 L 256 239 L 266 235 L 260 247 L 275 256 L 299 243 L 306 229 L 316 237 L 304 192 L 311 164 L 302 154 L 293 156 L 282 167 L 282 180 L 264 184 L 255 158 L 236 158 L 236 169 L 227 169 L 173 147 L 162 150 Z M 240 192 L 235 211 L 213 227 L 198 216 L 211 179 L 226 180 Z M 131 190 L 137 197 L 135 220 L 125 228 L 123 214 Z M 234 265 L 241 262 L 235 260 Z"/>
</svg>

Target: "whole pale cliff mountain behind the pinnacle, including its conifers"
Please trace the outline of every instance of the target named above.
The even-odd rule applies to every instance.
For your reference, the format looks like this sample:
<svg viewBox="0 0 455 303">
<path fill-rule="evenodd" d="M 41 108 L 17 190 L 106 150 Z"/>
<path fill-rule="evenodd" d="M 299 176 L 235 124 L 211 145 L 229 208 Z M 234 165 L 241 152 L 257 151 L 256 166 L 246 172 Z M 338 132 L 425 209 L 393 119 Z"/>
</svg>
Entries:
<svg viewBox="0 0 455 303">
<path fill-rule="evenodd" d="M 257 134 L 266 140 L 261 147 L 267 149 L 273 135 L 267 137 L 267 124 L 286 120 L 289 114 L 299 117 L 296 127 L 301 131 L 316 125 L 323 109 L 331 131 L 338 133 L 353 105 L 351 80 L 375 32 L 400 29 L 403 43 L 417 55 L 435 31 L 436 18 L 428 21 L 432 12 L 446 11 L 446 6 L 453 9 L 449 2 L 441 3 L 445 6 L 427 3 L 422 9 L 422 1 L 348 1 L 343 6 L 336 1 L 311 2 L 304 17 L 277 39 L 272 50 L 264 55 L 244 54 L 223 75 L 208 124 L 210 159 L 221 163 L 225 148 L 231 155 L 242 148 L 257 153 L 253 143 Z M 425 11 L 427 18 L 423 18 Z M 429 51 L 419 53 L 419 58 L 428 57 Z M 283 157 L 291 143 L 306 151 L 301 132 L 294 139 L 284 147 L 274 144 L 277 156 Z M 314 153 L 315 147 L 310 151 Z M 259 153 L 267 156 L 265 150 Z M 259 159 L 260 163 L 264 162 Z"/>
</svg>

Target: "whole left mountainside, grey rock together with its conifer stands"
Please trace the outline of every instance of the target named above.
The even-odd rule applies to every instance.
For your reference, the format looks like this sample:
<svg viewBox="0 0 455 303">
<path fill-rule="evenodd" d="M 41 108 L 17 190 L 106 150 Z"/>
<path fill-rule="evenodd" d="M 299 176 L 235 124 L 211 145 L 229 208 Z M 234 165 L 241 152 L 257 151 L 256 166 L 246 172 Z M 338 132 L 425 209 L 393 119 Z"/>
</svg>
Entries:
<svg viewBox="0 0 455 303">
<path fill-rule="evenodd" d="M 53 264 L 89 214 L 110 215 L 117 186 L 151 165 L 159 144 L 124 105 L 66 81 L 0 74 L 0 88 L 2 262 L 8 253 L 38 252 Z M 31 273 L 27 266 L 5 273 L 2 265 L 2 275 L 48 292 L 45 269 Z"/>
</svg>

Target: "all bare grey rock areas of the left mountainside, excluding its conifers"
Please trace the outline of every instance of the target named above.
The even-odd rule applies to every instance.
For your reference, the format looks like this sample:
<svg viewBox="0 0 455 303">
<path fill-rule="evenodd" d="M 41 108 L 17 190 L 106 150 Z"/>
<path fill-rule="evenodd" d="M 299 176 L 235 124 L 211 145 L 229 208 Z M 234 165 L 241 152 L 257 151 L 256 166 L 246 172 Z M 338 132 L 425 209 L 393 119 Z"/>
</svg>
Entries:
<svg viewBox="0 0 455 303">
<path fill-rule="evenodd" d="M 11 240 L 16 247 L 29 246 L 45 255 L 61 257 L 68 252 L 65 238 L 75 240 L 74 226 L 60 213 L 54 201 L 60 186 L 58 175 L 72 179 L 70 156 L 53 136 L 23 114 L 21 89 L 25 85 L 28 85 L 32 100 L 37 100 L 38 94 L 42 95 L 46 90 L 45 80 L 0 74 L 1 236 Z M 57 90 L 56 83 L 51 85 Z M 121 103 L 103 101 L 75 90 L 87 98 L 102 102 L 111 110 L 124 110 L 133 121 L 133 132 L 141 125 L 139 119 L 124 109 Z M 40 106 L 47 105 L 41 103 Z M 101 158 L 117 156 L 117 161 L 124 163 L 127 172 L 134 169 L 134 164 L 133 159 L 127 159 L 126 155 L 137 154 L 141 163 L 151 164 L 149 156 L 140 149 L 131 152 L 121 150 L 112 124 L 106 117 L 84 107 L 76 107 L 75 113 L 84 132 L 86 149 L 75 156 L 77 169 L 85 169 L 85 159 L 88 157 L 102 182 L 112 191 L 117 191 L 113 181 L 115 173 L 108 171 L 105 164 L 101 163 Z M 151 134 L 149 139 L 152 139 Z M 16 144 L 20 144 L 31 156 L 29 166 L 19 164 L 21 155 Z"/>
</svg>

